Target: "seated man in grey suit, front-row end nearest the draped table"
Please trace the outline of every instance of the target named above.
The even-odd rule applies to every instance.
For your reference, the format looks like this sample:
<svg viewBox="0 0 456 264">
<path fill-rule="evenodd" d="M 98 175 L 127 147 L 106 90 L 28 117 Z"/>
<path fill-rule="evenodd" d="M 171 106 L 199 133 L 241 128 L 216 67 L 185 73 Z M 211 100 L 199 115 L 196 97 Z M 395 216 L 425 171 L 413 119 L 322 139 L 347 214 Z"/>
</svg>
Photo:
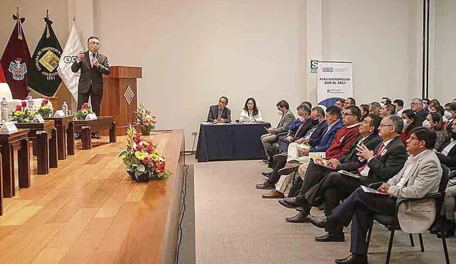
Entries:
<svg viewBox="0 0 456 264">
<path fill-rule="evenodd" d="M 286 100 L 280 100 L 277 102 L 277 113 L 281 115 L 279 124 L 275 128 L 267 128 L 267 134 L 261 136 L 261 144 L 263 144 L 264 152 L 266 153 L 265 162 L 269 162 L 269 152 L 272 147 L 274 147 L 274 143 L 277 142 L 279 135 L 286 134 L 288 131 L 288 126 L 295 120 L 293 112 L 289 110 L 290 105 Z"/>
</svg>

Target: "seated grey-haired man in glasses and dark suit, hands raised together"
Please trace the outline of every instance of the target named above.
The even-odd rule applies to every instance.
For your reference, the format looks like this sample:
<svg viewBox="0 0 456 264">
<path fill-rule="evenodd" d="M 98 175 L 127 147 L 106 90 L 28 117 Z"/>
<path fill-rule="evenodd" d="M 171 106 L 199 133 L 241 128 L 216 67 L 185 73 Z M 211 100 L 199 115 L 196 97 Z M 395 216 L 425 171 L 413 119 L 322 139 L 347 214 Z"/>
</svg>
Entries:
<svg viewBox="0 0 456 264">
<path fill-rule="evenodd" d="M 379 135 L 383 142 L 378 144 L 374 151 L 361 144 L 356 147 L 357 155 L 363 162 L 356 164 L 353 172 L 359 178 L 354 178 L 331 172 L 324 178 L 321 175 L 306 174 L 301 195 L 294 199 L 284 199 L 281 203 L 288 207 L 302 207 L 302 211 L 289 221 L 309 221 L 307 216 L 311 206 L 316 199 L 323 199 L 326 215 L 330 215 L 333 208 L 339 204 L 340 200 L 346 199 L 359 186 L 372 184 L 378 181 L 387 181 L 402 169 L 407 152 L 404 145 L 400 142 L 399 133 L 402 130 L 403 122 L 397 115 L 388 115 L 379 125 Z M 353 168 L 353 167 L 352 167 Z M 352 169 L 347 168 L 347 169 Z M 345 241 L 343 226 L 328 226 L 328 234 L 316 237 L 316 241 Z"/>
</svg>

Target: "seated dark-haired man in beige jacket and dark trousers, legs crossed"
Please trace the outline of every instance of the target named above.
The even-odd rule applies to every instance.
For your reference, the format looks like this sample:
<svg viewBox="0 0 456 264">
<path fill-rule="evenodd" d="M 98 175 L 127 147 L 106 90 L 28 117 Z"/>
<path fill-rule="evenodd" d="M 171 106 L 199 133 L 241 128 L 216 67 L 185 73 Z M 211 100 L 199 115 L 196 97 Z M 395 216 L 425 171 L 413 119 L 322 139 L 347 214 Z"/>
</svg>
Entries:
<svg viewBox="0 0 456 264">
<path fill-rule="evenodd" d="M 425 127 L 416 128 L 408 140 L 407 150 L 410 157 L 403 169 L 378 189 L 389 196 L 371 194 L 358 188 L 337 206 L 330 216 L 310 217 L 311 223 L 319 228 L 340 224 L 348 226 L 353 220 L 351 255 L 336 260 L 336 263 L 368 263 L 366 235 L 371 228 L 373 215 L 395 215 L 397 199 L 420 199 L 438 191 L 442 168 L 437 156 L 432 152 L 434 144 L 434 131 Z M 406 233 L 423 233 L 434 221 L 432 216 L 435 213 L 434 199 L 419 201 L 419 204 L 414 201 L 405 203 L 398 208 L 400 228 Z"/>
</svg>

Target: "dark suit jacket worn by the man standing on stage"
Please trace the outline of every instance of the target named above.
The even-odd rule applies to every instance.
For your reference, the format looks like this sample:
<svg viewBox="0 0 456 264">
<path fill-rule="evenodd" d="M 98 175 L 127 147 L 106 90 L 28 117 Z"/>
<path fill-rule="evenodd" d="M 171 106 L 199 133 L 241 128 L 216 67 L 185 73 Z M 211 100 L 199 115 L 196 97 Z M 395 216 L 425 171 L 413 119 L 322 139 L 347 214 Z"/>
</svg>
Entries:
<svg viewBox="0 0 456 264">
<path fill-rule="evenodd" d="M 78 63 L 76 60 L 71 65 L 73 73 L 81 69 L 81 77 L 79 78 L 78 93 L 87 93 L 90 85 L 95 95 L 103 95 L 103 77 L 102 74 L 110 73 L 108 57 L 101 53 L 97 53 L 98 66 L 90 65 L 89 53 L 84 53 L 84 58 Z"/>
</svg>

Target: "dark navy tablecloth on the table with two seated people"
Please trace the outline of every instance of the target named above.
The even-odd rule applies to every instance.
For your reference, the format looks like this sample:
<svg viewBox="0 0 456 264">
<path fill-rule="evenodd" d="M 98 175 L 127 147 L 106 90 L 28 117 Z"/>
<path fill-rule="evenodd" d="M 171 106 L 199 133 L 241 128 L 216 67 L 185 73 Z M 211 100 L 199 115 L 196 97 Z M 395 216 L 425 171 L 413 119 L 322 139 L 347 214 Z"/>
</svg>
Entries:
<svg viewBox="0 0 456 264">
<path fill-rule="evenodd" d="M 212 160 L 263 159 L 260 137 L 270 123 L 229 123 L 199 126 L 196 158 L 198 162 Z"/>
</svg>

